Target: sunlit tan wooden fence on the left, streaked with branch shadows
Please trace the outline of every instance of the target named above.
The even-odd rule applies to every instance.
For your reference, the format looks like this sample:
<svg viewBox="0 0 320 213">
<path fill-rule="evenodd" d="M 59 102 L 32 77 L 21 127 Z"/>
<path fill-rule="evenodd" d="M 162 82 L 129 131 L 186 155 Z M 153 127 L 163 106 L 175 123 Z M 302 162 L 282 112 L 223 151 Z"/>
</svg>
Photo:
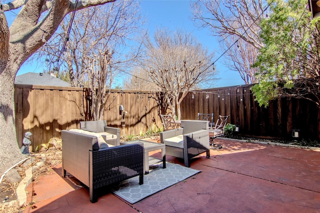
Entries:
<svg viewBox="0 0 320 213">
<path fill-rule="evenodd" d="M 104 106 L 103 119 L 111 127 L 121 128 L 121 135 L 138 135 L 148 128 L 162 127 L 159 117 L 159 93 L 111 90 Z M 90 119 L 90 92 L 86 88 L 15 84 L 15 126 L 19 147 L 25 132 L 31 132 L 31 146 L 60 139 L 61 130 L 80 128 Z M 119 106 L 127 115 L 122 119 Z M 122 126 L 123 124 L 123 126 Z"/>
</svg>

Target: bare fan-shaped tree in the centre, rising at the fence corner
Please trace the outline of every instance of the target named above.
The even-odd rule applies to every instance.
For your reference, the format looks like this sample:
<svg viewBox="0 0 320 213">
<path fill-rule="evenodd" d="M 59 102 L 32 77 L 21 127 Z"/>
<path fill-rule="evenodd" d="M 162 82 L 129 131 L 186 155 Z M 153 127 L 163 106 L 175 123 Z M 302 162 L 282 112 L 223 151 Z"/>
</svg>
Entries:
<svg viewBox="0 0 320 213">
<path fill-rule="evenodd" d="M 144 46 L 146 57 L 139 61 L 139 69 L 166 92 L 173 114 L 180 119 L 180 103 L 188 91 L 214 81 L 215 72 L 208 69 L 213 53 L 182 30 L 158 29 L 154 42 L 147 38 Z"/>
</svg>

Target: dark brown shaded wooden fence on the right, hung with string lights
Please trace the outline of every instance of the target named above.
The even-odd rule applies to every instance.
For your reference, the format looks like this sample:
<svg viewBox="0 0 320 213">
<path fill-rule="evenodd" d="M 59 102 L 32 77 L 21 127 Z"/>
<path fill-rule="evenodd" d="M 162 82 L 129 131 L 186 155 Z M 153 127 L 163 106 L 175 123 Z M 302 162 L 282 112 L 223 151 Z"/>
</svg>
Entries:
<svg viewBox="0 0 320 213">
<path fill-rule="evenodd" d="M 302 138 L 320 138 L 320 112 L 313 102 L 278 98 L 270 101 L 266 108 L 259 107 L 251 86 L 189 92 L 181 103 L 181 119 L 196 119 L 198 112 L 214 113 L 214 121 L 219 115 L 230 115 L 228 123 L 239 125 L 242 135 L 288 139 L 292 129 L 298 129 Z"/>
</svg>

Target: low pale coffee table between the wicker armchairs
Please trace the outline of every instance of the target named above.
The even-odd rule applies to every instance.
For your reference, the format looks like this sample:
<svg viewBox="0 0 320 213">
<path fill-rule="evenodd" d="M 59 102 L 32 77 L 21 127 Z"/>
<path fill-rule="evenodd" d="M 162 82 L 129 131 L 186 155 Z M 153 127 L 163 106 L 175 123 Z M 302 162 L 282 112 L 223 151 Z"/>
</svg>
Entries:
<svg viewBox="0 0 320 213">
<path fill-rule="evenodd" d="M 165 144 L 150 142 L 150 141 L 143 141 L 143 140 L 135 140 L 135 141 L 123 141 L 120 142 L 120 145 L 125 144 L 135 144 L 135 143 L 142 143 L 143 144 L 143 174 L 149 173 L 149 165 L 158 163 L 162 161 L 163 169 L 165 169 Z M 149 161 L 149 152 L 161 150 L 162 159 L 155 159 L 152 158 L 151 161 Z M 150 157 L 151 159 L 151 157 Z M 151 164 L 149 164 L 151 163 Z"/>
</svg>

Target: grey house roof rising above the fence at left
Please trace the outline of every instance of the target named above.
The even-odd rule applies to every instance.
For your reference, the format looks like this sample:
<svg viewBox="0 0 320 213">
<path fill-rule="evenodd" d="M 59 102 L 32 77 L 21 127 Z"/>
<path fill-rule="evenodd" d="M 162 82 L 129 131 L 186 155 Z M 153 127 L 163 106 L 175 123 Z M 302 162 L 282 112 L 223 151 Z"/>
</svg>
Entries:
<svg viewBox="0 0 320 213">
<path fill-rule="evenodd" d="M 68 82 L 62 81 L 52 75 L 44 73 L 27 72 L 15 76 L 15 84 L 44 85 L 44 86 L 71 86 Z"/>
</svg>

